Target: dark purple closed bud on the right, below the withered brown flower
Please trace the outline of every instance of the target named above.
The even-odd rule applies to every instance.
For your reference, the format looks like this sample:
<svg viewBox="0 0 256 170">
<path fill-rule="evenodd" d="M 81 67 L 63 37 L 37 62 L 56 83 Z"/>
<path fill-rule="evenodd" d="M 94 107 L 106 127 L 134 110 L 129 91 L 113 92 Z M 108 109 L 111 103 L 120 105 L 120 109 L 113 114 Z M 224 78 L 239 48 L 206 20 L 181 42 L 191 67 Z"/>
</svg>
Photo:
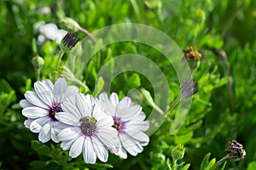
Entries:
<svg viewBox="0 0 256 170">
<path fill-rule="evenodd" d="M 198 92 L 198 82 L 195 82 L 194 79 L 190 78 L 186 82 L 183 82 L 182 86 L 179 89 L 183 97 L 185 99 L 189 99 Z"/>
</svg>

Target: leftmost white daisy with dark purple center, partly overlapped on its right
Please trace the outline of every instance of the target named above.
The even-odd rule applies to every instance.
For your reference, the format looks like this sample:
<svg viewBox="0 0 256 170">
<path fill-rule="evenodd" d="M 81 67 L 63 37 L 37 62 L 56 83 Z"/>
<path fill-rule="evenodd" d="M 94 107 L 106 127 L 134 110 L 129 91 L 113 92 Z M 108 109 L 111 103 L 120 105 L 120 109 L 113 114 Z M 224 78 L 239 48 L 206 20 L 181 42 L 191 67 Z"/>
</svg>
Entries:
<svg viewBox="0 0 256 170">
<path fill-rule="evenodd" d="M 39 133 L 39 141 L 45 143 L 49 139 L 60 142 L 55 131 L 55 115 L 62 112 L 61 103 L 68 96 L 75 95 L 79 88 L 67 87 L 65 78 L 59 78 L 55 85 L 48 79 L 42 82 L 35 82 L 36 92 L 26 91 L 25 98 L 20 100 L 22 115 L 28 119 L 24 122 L 25 127 L 33 133 Z M 60 123 L 58 123 L 60 124 Z"/>
</svg>

